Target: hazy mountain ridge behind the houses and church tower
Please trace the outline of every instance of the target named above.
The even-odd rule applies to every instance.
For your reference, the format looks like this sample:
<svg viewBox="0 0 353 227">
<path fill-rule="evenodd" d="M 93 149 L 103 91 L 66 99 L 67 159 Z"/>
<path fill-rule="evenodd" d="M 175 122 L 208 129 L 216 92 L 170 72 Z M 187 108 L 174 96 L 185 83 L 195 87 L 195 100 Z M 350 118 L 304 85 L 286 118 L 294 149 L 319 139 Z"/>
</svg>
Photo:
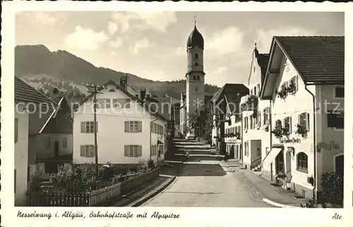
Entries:
<svg viewBox="0 0 353 227">
<path fill-rule="evenodd" d="M 49 88 L 63 83 L 70 83 L 70 85 L 66 84 L 66 88 L 62 91 L 68 91 L 72 86 L 76 88 L 75 90 L 85 93 L 86 83 L 103 84 L 109 79 L 119 83 L 120 77 L 125 76 L 126 73 L 94 66 L 65 50 L 51 52 L 44 45 L 19 45 L 15 47 L 15 75 L 24 78 L 37 89 L 42 88 L 44 93 Z M 53 84 L 53 81 L 60 82 Z M 42 83 L 46 83 L 47 86 L 43 88 Z M 181 91 L 186 92 L 185 83 L 185 80 L 152 81 L 128 74 L 129 86 L 137 91 L 140 88 L 146 88 L 151 94 L 159 97 L 168 94 L 179 99 Z M 205 85 L 206 95 L 213 95 L 218 89 L 217 86 Z"/>
</svg>

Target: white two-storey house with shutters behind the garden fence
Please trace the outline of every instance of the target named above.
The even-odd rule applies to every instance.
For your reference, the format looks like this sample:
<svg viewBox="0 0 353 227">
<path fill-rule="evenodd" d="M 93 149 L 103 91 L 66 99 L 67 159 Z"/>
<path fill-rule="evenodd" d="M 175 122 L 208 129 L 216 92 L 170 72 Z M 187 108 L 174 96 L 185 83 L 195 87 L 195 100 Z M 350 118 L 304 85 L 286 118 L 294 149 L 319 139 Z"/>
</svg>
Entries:
<svg viewBox="0 0 353 227">
<path fill-rule="evenodd" d="M 120 84 L 110 80 L 97 93 L 97 156 L 99 164 L 136 165 L 164 159 L 168 120 L 155 102 L 127 90 L 127 78 Z M 160 151 L 160 152 L 159 152 Z M 93 95 L 73 111 L 73 163 L 95 163 Z"/>
</svg>

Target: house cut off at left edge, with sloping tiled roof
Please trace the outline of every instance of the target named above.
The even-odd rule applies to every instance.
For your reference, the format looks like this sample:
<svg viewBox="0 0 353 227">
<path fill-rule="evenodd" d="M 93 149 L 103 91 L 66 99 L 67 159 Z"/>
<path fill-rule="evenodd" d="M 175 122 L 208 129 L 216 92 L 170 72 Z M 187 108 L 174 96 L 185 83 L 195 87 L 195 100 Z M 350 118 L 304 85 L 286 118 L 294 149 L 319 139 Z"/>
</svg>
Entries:
<svg viewBox="0 0 353 227">
<path fill-rule="evenodd" d="M 15 206 L 24 206 L 26 202 L 25 193 L 27 192 L 29 178 L 29 140 L 36 129 L 39 132 L 41 126 L 47 120 L 47 115 L 42 112 L 42 106 L 57 107 L 53 100 L 15 76 Z M 46 118 L 43 120 L 43 117 Z M 42 124 L 38 122 L 42 122 Z M 42 144 L 42 146 L 44 145 Z"/>
</svg>

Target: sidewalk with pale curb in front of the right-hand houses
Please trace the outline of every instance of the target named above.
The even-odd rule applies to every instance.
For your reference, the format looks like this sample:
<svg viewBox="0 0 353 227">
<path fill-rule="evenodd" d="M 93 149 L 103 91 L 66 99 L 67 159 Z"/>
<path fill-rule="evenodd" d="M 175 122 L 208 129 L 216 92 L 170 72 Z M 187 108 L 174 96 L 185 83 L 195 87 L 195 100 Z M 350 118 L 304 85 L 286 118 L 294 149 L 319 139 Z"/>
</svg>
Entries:
<svg viewBox="0 0 353 227">
<path fill-rule="evenodd" d="M 293 196 L 295 192 L 291 192 L 283 189 L 282 187 L 274 187 L 270 185 L 270 180 L 265 179 L 259 173 L 252 172 L 250 170 L 243 169 L 241 163 L 236 160 L 229 160 L 225 162 L 226 165 L 233 168 L 235 173 L 242 179 L 251 185 L 262 198 L 263 202 L 266 202 L 272 206 L 277 207 L 300 207 L 300 204 L 306 204 L 309 199 L 297 199 Z"/>
</svg>

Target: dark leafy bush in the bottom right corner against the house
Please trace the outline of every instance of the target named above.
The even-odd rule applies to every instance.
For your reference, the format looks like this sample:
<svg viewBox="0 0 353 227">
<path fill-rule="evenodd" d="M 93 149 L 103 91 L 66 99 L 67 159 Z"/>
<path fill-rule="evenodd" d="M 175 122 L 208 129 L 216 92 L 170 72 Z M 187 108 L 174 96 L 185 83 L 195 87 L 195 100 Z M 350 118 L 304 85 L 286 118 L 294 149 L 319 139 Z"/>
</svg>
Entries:
<svg viewBox="0 0 353 227">
<path fill-rule="evenodd" d="M 321 201 L 330 204 L 343 204 L 343 175 L 323 173 L 320 178 L 322 187 Z"/>
</svg>

